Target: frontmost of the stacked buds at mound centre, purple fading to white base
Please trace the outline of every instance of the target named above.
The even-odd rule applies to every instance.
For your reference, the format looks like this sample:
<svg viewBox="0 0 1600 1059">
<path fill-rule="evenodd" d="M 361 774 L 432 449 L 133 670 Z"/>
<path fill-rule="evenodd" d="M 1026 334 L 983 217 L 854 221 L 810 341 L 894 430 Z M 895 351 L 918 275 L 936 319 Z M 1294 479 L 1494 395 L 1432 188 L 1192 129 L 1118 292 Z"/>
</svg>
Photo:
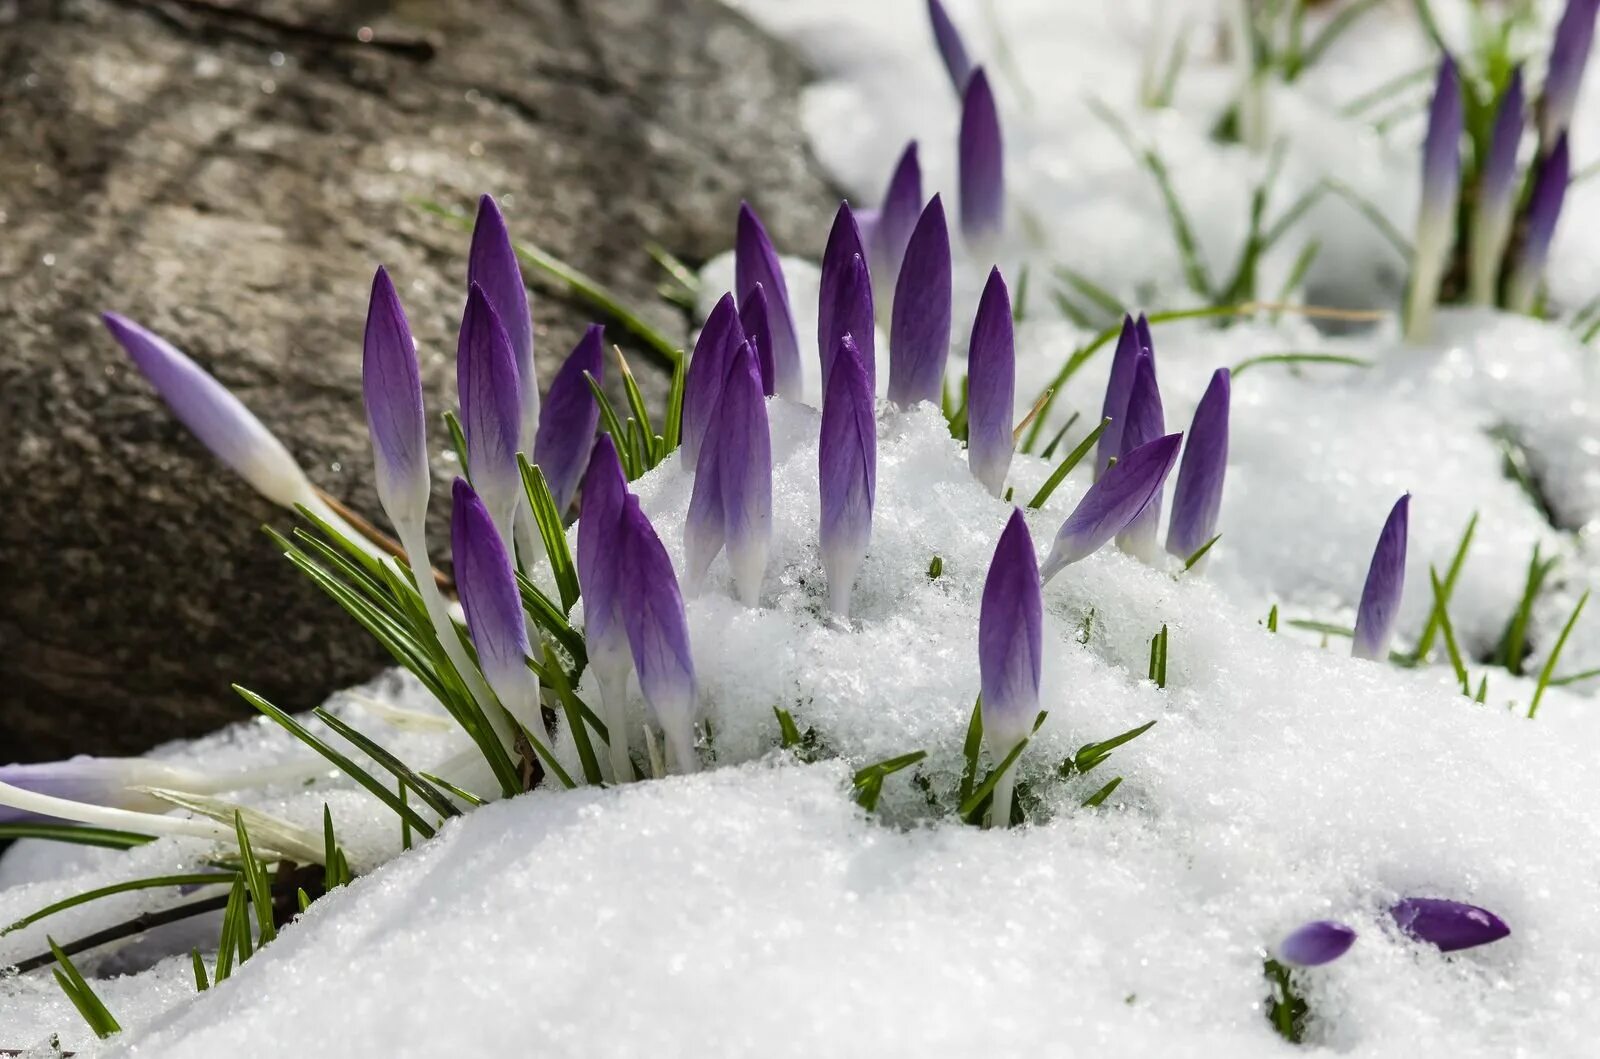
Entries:
<svg viewBox="0 0 1600 1059">
<path fill-rule="evenodd" d="M 822 493 L 819 542 L 829 605 L 850 617 L 856 571 L 872 542 L 872 502 L 878 482 L 878 430 L 872 382 L 856 341 L 845 334 L 834 352 L 834 374 L 822 395 L 818 483 Z"/>
</svg>

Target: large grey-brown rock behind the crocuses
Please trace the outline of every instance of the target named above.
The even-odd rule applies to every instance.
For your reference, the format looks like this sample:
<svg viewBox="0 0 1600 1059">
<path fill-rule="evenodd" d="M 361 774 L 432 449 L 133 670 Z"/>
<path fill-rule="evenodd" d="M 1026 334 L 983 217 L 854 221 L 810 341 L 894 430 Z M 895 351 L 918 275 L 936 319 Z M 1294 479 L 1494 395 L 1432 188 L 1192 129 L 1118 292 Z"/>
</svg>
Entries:
<svg viewBox="0 0 1600 1059">
<path fill-rule="evenodd" d="M 430 411 L 454 405 L 467 235 L 416 200 L 494 194 L 518 238 L 682 342 L 646 242 L 701 261 L 741 197 L 779 245 L 818 242 L 803 74 L 715 0 L 0 0 L 0 761 L 216 728 L 250 712 L 234 681 L 307 709 L 387 661 L 274 550 L 259 526 L 291 518 L 166 413 L 99 310 L 168 336 L 379 515 L 374 266 Z M 594 314 L 530 282 L 549 381 Z M 454 467 L 442 426 L 430 442 L 443 557 Z"/>
</svg>

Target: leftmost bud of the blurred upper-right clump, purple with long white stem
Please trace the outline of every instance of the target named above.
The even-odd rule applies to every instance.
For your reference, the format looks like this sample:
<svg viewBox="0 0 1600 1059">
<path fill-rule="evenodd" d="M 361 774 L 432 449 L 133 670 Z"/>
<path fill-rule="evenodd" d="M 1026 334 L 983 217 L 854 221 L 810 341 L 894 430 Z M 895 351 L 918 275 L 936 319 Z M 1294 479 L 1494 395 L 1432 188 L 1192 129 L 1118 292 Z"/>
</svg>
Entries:
<svg viewBox="0 0 1600 1059">
<path fill-rule="evenodd" d="M 1448 54 L 1438 66 L 1434 104 L 1422 141 L 1422 202 L 1416 214 L 1411 288 L 1406 293 L 1406 338 L 1426 341 L 1434 330 L 1434 304 L 1456 232 L 1461 192 L 1461 83 Z"/>
</svg>

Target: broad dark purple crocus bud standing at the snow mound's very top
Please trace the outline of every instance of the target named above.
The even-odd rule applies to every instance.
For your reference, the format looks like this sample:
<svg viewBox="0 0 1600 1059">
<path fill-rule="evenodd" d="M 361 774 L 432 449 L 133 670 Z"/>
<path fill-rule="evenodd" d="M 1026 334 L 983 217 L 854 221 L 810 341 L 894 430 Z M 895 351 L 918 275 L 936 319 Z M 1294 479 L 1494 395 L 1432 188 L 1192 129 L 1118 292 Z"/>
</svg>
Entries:
<svg viewBox="0 0 1600 1059">
<path fill-rule="evenodd" d="M 862 347 L 862 355 L 866 355 Z M 890 322 L 890 400 L 939 403 L 950 355 L 950 229 L 934 195 L 906 243 Z"/>
</svg>

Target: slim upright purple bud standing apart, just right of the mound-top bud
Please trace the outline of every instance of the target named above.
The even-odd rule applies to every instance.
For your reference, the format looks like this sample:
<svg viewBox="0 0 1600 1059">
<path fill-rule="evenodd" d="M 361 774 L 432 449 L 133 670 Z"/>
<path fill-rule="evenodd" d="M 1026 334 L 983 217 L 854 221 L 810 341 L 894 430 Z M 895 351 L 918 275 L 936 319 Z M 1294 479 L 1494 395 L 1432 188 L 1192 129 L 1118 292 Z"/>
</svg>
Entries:
<svg viewBox="0 0 1600 1059">
<path fill-rule="evenodd" d="M 1011 331 L 1011 294 L 1000 269 L 978 299 L 973 338 L 966 347 L 966 466 L 990 496 L 1005 491 L 1016 438 L 1011 411 L 1016 403 L 1016 338 Z"/>
</svg>

